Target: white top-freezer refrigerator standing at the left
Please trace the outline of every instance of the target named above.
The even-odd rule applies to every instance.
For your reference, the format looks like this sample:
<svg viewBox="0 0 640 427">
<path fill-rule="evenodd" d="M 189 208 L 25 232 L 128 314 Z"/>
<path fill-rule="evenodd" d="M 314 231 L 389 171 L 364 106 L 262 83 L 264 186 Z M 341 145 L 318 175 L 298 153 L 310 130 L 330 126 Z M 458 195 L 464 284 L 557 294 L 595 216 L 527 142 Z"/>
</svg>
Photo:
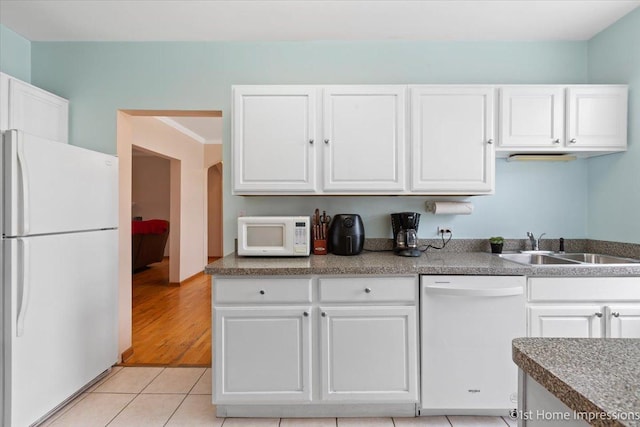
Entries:
<svg viewBox="0 0 640 427">
<path fill-rule="evenodd" d="M 2 424 L 29 426 L 118 361 L 118 159 L 2 139 Z"/>
</svg>

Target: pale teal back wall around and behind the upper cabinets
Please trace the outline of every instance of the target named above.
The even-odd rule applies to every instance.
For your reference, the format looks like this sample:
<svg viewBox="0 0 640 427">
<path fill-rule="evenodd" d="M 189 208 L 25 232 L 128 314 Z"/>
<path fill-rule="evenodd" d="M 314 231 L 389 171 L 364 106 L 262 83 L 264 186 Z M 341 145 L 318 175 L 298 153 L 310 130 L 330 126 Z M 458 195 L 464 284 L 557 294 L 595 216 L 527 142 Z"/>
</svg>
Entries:
<svg viewBox="0 0 640 427">
<path fill-rule="evenodd" d="M 71 143 L 116 151 L 118 109 L 223 111 L 230 165 L 233 84 L 586 83 L 586 42 L 33 42 L 32 82 L 71 101 Z M 496 195 L 473 197 L 470 216 L 424 214 L 420 237 L 438 225 L 456 238 L 526 231 L 587 233 L 587 162 L 498 161 Z M 234 197 L 224 168 L 225 253 L 247 214 L 360 213 L 368 237 L 391 236 L 388 214 L 424 212 L 423 197 Z"/>
</svg>

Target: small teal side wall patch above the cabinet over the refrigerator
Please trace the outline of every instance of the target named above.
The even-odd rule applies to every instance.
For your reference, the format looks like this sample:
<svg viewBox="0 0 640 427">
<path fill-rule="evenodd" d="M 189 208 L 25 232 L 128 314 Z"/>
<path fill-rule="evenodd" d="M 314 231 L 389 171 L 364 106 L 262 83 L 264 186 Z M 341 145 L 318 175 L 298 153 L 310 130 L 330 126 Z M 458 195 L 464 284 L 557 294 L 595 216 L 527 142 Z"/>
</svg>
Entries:
<svg viewBox="0 0 640 427">
<path fill-rule="evenodd" d="M 0 25 L 0 71 L 31 81 L 31 42 Z"/>
</svg>

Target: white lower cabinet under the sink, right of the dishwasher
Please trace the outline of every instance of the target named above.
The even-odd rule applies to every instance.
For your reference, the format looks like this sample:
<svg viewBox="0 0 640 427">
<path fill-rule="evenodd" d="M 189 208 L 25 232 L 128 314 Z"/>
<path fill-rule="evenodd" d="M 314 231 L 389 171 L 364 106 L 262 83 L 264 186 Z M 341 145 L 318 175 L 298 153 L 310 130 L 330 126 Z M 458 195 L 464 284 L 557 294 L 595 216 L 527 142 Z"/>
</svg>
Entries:
<svg viewBox="0 0 640 427">
<path fill-rule="evenodd" d="M 529 279 L 529 336 L 640 338 L 640 277 Z"/>
</svg>

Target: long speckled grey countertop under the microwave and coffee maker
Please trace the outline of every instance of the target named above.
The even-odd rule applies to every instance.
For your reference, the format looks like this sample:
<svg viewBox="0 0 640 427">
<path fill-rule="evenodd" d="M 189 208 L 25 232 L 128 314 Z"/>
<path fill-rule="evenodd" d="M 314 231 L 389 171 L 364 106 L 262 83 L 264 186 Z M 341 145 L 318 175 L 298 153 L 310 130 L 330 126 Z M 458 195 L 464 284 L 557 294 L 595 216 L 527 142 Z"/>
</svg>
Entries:
<svg viewBox="0 0 640 427">
<path fill-rule="evenodd" d="M 222 276 L 303 274 L 475 274 L 521 276 L 640 276 L 640 264 L 629 266 L 528 266 L 486 252 L 428 252 L 405 258 L 391 252 L 355 256 L 239 257 L 227 255 L 205 267 Z"/>
</svg>

